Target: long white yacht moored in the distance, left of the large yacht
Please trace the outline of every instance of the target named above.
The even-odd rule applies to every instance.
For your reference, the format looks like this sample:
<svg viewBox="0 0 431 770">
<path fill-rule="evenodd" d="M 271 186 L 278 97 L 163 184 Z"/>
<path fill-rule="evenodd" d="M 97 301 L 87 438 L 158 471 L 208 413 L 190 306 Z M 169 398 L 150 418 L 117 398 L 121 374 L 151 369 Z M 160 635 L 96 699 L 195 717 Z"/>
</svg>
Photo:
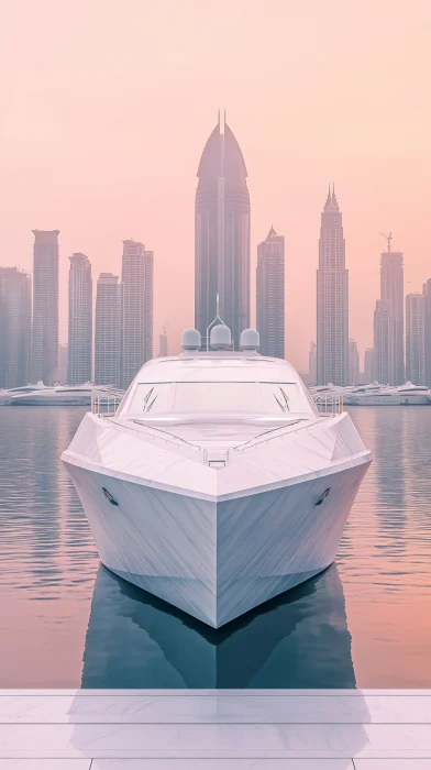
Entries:
<svg viewBox="0 0 431 770">
<path fill-rule="evenodd" d="M 123 392 L 113 386 L 92 385 L 54 385 L 40 389 L 25 389 L 25 393 L 13 394 L 11 406 L 89 406 L 91 397 L 97 395 L 117 395 Z"/>
</svg>

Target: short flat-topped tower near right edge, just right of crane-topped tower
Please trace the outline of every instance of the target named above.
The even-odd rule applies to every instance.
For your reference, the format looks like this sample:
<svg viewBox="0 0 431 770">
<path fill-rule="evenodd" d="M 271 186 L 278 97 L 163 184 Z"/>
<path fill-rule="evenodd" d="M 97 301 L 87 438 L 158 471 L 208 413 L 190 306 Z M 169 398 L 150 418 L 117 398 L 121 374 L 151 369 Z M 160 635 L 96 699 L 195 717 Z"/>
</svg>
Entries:
<svg viewBox="0 0 431 770">
<path fill-rule="evenodd" d="M 426 341 L 424 341 L 423 294 L 408 294 L 406 297 L 406 373 L 413 385 L 426 383 Z"/>
</svg>

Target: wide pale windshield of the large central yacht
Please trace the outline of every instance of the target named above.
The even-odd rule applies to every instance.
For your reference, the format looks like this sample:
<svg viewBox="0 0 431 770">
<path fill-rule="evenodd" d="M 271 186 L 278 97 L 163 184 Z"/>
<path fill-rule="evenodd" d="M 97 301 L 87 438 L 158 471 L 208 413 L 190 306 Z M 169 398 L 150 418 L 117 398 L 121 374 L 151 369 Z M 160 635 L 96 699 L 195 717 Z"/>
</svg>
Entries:
<svg viewBox="0 0 431 770">
<path fill-rule="evenodd" d="M 301 385 L 259 382 L 141 383 L 122 414 L 314 414 Z"/>
</svg>

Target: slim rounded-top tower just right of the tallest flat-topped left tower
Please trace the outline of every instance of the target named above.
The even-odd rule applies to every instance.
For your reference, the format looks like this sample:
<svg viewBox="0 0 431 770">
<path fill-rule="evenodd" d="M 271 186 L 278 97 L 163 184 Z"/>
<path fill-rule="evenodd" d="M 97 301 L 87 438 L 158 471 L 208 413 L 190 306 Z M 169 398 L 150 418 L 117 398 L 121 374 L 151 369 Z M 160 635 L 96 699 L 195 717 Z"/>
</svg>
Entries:
<svg viewBox="0 0 431 770">
<path fill-rule="evenodd" d="M 81 385 L 91 381 L 92 370 L 92 280 L 91 264 L 85 254 L 69 256 L 69 326 L 67 382 Z"/>
</svg>

